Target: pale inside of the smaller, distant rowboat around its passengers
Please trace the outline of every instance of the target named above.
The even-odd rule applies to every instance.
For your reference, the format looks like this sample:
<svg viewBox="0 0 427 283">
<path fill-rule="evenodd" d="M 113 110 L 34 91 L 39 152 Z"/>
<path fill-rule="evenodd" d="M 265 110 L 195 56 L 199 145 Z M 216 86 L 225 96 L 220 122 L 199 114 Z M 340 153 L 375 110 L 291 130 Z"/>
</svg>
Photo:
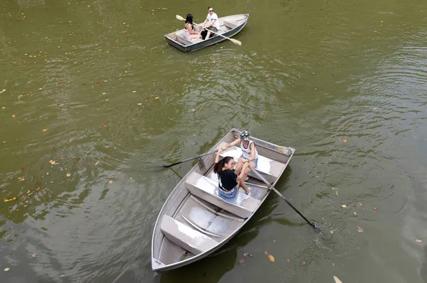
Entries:
<svg viewBox="0 0 427 283">
<path fill-rule="evenodd" d="M 228 31 L 231 31 L 233 28 L 240 26 L 244 21 L 247 20 L 247 18 L 248 17 L 246 15 L 234 15 L 234 16 L 226 16 L 226 17 L 218 18 L 218 22 L 219 22 L 218 33 L 223 34 L 223 33 L 226 33 Z M 201 30 L 200 26 L 198 26 L 196 24 L 194 24 L 194 29 L 198 32 Z M 167 37 L 172 39 L 173 41 L 179 42 L 183 46 L 189 46 L 191 44 L 204 41 L 201 38 L 194 38 L 191 40 L 187 39 L 184 36 L 184 31 L 185 31 L 185 29 L 183 28 L 179 31 L 169 33 L 167 35 Z"/>
</svg>

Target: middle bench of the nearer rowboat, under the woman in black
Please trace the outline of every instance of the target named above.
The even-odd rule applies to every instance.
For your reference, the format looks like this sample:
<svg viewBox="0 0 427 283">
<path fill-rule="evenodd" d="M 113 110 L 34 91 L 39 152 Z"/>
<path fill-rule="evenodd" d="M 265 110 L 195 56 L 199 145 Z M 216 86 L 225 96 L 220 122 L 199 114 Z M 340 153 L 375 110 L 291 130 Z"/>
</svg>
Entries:
<svg viewBox="0 0 427 283">
<path fill-rule="evenodd" d="M 227 210 L 241 218 L 248 218 L 260 205 L 256 198 L 246 195 L 243 189 L 239 188 L 237 196 L 234 198 L 222 198 L 218 193 L 218 182 L 203 176 L 199 173 L 191 173 L 185 181 L 186 188 L 194 196 L 197 196 L 218 208 Z"/>
</svg>

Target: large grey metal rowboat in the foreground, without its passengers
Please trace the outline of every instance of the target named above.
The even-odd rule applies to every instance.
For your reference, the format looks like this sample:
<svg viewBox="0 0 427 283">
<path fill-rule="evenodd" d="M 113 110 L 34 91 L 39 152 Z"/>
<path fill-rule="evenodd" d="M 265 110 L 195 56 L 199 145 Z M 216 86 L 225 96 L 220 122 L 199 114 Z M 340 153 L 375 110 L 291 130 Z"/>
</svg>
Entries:
<svg viewBox="0 0 427 283">
<path fill-rule="evenodd" d="M 254 178 L 246 182 L 250 195 L 239 189 L 235 198 L 218 195 L 218 178 L 214 173 L 216 149 L 240 137 L 231 129 L 176 185 L 157 217 L 152 236 L 152 269 L 164 272 L 183 267 L 207 257 L 231 240 L 251 220 L 270 194 L 265 183 Z M 256 171 L 273 186 L 288 166 L 295 149 L 278 146 L 251 137 L 258 151 Z M 233 156 L 237 161 L 241 149 L 237 146 L 223 151 L 221 157 Z"/>
</svg>

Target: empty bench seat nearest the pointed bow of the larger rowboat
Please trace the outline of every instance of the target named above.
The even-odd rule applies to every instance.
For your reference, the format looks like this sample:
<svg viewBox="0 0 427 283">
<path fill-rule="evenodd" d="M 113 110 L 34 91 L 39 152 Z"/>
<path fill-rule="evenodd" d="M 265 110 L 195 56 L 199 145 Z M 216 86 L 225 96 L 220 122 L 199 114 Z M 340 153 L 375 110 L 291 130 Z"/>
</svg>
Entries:
<svg viewBox="0 0 427 283">
<path fill-rule="evenodd" d="M 216 240 L 212 240 L 210 237 L 193 228 L 189 228 L 189 226 L 174 220 L 168 215 L 163 216 L 160 229 L 168 240 L 194 255 L 199 255 L 218 245 Z"/>
</svg>

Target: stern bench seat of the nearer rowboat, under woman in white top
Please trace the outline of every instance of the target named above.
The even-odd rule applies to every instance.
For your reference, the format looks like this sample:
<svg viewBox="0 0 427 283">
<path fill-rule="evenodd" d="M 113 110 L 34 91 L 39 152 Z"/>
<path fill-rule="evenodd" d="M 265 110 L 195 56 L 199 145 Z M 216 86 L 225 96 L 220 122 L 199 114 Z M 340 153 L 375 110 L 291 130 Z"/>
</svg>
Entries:
<svg viewBox="0 0 427 283">
<path fill-rule="evenodd" d="M 221 142 L 218 147 L 224 147 L 226 145 L 226 142 Z M 236 161 L 236 164 L 241 155 L 242 150 L 237 146 L 231 146 L 229 149 L 221 152 L 220 154 L 221 157 L 233 157 L 234 161 Z M 285 167 L 286 166 L 283 163 L 273 159 L 268 159 L 267 157 L 260 156 L 260 154 L 258 154 L 258 165 L 256 166 L 255 170 L 258 171 L 258 173 L 260 173 L 261 176 L 263 176 L 269 183 L 273 183 L 280 177 L 280 174 L 283 172 Z M 249 176 L 258 179 L 258 177 L 252 173 L 252 171 L 249 173 Z"/>
</svg>

